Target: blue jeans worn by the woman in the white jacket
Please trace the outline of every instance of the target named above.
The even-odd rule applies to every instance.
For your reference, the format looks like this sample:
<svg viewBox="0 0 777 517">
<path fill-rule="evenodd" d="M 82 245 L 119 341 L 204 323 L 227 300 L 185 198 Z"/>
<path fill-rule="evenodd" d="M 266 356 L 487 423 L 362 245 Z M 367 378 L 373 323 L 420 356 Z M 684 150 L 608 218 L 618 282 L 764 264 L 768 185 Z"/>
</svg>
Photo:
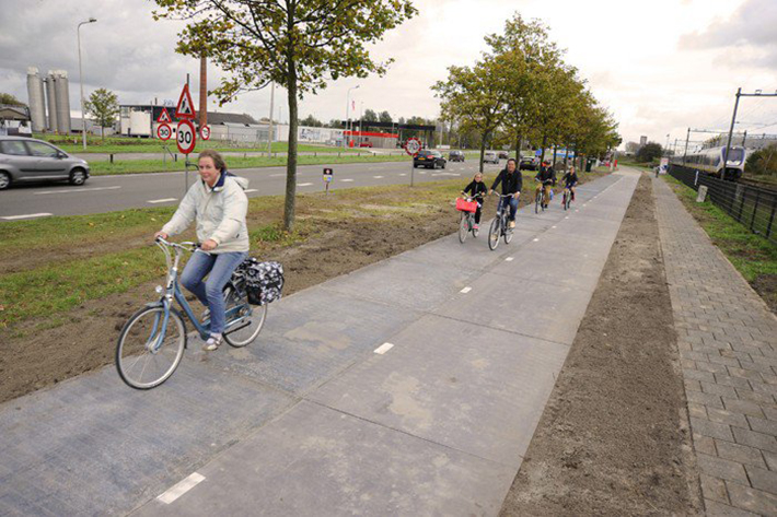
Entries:
<svg viewBox="0 0 777 517">
<path fill-rule="evenodd" d="M 232 278 L 232 272 L 245 260 L 248 254 L 230 251 L 210 255 L 197 250 L 186 262 L 181 273 L 181 284 L 194 293 L 202 305 L 210 309 L 210 333 L 222 333 L 225 327 L 223 290 Z M 202 281 L 208 275 L 208 280 Z"/>
</svg>

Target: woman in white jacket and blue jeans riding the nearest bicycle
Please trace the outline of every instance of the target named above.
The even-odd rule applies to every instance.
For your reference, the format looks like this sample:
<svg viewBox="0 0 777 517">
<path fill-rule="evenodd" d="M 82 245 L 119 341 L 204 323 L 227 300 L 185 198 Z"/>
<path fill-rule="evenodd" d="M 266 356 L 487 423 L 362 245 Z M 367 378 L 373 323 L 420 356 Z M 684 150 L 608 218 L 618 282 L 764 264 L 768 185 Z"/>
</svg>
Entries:
<svg viewBox="0 0 777 517">
<path fill-rule="evenodd" d="M 248 255 L 248 198 L 243 191 L 248 180 L 227 172 L 221 154 L 211 149 L 202 151 L 197 161 L 201 180 L 189 188 L 178 210 L 154 238 L 167 239 L 196 220 L 201 245 L 186 263 L 181 283 L 210 310 L 210 337 L 202 349 L 213 351 L 221 344 L 225 326 L 222 291 Z M 208 280 L 204 281 L 206 275 Z"/>
</svg>

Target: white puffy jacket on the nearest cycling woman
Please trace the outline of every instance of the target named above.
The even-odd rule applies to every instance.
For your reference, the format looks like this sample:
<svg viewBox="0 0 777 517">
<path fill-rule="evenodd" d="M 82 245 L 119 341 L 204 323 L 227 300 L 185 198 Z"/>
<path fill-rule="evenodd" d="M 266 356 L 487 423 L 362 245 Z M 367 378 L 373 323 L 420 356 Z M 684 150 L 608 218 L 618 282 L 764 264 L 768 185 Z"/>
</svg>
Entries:
<svg viewBox="0 0 777 517">
<path fill-rule="evenodd" d="M 162 232 L 179 234 L 196 219 L 199 242 L 212 239 L 219 245 L 211 254 L 248 251 L 248 228 L 245 224 L 248 198 L 244 192 L 247 186 L 247 179 L 225 171 L 213 188 L 198 179 Z"/>
</svg>

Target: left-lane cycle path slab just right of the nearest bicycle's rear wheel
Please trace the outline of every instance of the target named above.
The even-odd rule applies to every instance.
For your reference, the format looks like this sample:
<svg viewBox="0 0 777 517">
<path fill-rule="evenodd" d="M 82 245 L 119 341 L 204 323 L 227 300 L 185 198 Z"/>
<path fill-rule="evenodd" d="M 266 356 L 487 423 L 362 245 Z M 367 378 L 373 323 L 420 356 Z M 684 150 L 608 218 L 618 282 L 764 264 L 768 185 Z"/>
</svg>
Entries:
<svg viewBox="0 0 777 517">
<path fill-rule="evenodd" d="M 350 296 L 313 287 L 274 303 L 254 343 L 243 349 L 224 346 L 210 361 L 302 393 L 371 354 L 382 337 L 398 332 L 419 316 L 396 305 L 353 303 Z"/>
</svg>

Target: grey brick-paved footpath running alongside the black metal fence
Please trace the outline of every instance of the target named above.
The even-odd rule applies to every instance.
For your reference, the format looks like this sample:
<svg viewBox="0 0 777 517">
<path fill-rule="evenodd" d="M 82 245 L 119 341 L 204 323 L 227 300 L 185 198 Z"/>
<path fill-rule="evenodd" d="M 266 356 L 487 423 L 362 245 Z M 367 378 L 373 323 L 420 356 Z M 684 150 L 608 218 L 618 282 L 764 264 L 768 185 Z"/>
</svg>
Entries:
<svg viewBox="0 0 777 517">
<path fill-rule="evenodd" d="M 707 514 L 777 515 L 777 319 L 669 186 L 653 191 Z"/>
</svg>

